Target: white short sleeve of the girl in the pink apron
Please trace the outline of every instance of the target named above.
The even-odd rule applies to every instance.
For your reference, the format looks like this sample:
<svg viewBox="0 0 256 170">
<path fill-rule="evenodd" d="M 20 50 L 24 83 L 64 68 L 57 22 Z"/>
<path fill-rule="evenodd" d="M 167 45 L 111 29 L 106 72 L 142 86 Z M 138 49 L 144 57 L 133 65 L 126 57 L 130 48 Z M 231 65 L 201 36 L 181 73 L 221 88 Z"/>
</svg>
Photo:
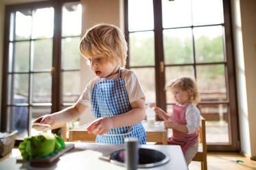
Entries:
<svg viewBox="0 0 256 170">
<path fill-rule="evenodd" d="M 182 106 L 179 105 L 178 106 Z M 192 134 L 198 130 L 200 125 L 200 111 L 194 104 L 189 104 L 186 108 L 185 117 L 187 121 L 187 130 L 189 131 L 188 134 Z"/>
</svg>

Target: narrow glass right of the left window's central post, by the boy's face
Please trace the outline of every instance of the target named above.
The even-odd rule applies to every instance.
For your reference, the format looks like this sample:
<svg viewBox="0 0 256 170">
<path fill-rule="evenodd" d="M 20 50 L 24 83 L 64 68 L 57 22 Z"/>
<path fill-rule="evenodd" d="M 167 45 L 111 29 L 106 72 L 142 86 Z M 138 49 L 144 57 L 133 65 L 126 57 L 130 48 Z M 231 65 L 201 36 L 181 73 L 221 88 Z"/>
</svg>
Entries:
<svg viewBox="0 0 256 170">
<path fill-rule="evenodd" d="M 72 106 L 80 96 L 80 34 L 82 6 L 67 4 L 62 8 L 62 108 Z M 76 27 L 73 27 L 76 25 Z"/>
</svg>

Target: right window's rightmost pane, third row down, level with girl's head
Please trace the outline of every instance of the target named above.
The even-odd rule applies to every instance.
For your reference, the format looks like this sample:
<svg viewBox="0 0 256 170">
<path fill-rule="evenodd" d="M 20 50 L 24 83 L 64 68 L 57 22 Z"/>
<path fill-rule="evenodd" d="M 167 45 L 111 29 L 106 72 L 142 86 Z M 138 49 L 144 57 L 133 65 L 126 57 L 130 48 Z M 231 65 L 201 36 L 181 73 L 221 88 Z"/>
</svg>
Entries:
<svg viewBox="0 0 256 170">
<path fill-rule="evenodd" d="M 196 66 L 196 73 L 202 101 L 226 101 L 224 64 Z"/>
</svg>

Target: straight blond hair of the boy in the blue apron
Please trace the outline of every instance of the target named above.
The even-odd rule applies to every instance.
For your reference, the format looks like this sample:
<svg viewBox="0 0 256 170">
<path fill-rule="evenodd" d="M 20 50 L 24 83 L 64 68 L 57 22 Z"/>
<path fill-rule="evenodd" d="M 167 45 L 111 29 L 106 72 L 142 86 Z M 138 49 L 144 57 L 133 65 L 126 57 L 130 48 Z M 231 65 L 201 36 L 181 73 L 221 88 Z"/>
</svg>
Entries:
<svg viewBox="0 0 256 170">
<path fill-rule="evenodd" d="M 105 54 L 119 66 L 126 65 L 127 43 L 124 34 L 115 25 L 97 24 L 86 31 L 80 42 L 80 53 L 87 59 Z"/>
</svg>

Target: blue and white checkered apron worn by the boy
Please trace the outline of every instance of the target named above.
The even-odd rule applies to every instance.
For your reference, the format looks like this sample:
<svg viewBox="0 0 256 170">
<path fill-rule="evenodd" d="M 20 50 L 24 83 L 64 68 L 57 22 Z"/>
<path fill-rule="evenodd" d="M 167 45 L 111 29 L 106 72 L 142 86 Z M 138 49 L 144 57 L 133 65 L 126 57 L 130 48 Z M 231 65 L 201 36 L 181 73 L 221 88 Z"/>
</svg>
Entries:
<svg viewBox="0 0 256 170">
<path fill-rule="evenodd" d="M 131 110 L 124 80 L 121 78 L 121 69 L 119 69 L 119 78 L 117 80 L 98 81 L 93 86 L 91 95 L 91 105 L 93 116 L 113 117 Z M 116 127 L 103 135 L 97 135 L 97 143 L 123 144 L 124 138 L 137 137 L 140 144 L 146 144 L 146 132 L 141 122 L 130 126 Z"/>
</svg>

